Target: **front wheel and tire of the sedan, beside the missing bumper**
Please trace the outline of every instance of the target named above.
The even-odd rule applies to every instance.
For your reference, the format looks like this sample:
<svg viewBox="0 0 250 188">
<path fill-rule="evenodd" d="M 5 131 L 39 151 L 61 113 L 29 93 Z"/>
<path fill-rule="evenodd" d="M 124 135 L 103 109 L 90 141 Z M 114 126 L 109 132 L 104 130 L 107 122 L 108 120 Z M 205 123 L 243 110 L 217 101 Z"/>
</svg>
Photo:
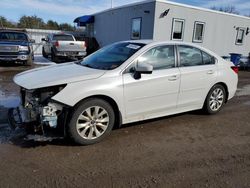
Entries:
<svg viewBox="0 0 250 188">
<path fill-rule="evenodd" d="M 68 136 L 75 143 L 90 145 L 100 142 L 112 130 L 115 113 L 111 105 L 98 98 L 76 106 L 68 124 Z"/>
</svg>

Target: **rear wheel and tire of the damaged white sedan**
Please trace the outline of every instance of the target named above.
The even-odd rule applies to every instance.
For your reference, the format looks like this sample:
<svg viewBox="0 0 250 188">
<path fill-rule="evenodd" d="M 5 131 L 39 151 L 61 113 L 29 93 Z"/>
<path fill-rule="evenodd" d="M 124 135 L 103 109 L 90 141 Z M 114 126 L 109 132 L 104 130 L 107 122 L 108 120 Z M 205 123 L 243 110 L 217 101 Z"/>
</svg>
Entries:
<svg viewBox="0 0 250 188">
<path fill-rule="evenodd" d="M 203 110 L 207 114 L 216 114 L 221 110 L 226 101 L 226 91 L 222 85 L 214 85 L 206 97 Z"/>
</svg>

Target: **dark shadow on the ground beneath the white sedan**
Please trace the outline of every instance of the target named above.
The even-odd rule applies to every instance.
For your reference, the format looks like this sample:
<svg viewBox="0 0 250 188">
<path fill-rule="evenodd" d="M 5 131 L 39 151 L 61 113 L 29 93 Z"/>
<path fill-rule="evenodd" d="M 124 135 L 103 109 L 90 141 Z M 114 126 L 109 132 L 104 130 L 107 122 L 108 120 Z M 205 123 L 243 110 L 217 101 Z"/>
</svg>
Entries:
<svg viewBox="0 0 250 188">
<path fill-rule="evenodd" d="M 191 116 L 206 116 L 204 112 L 201 110 L 196 110 L 196 111 L 191 111 L 191 112 L 185 112 L 185 113 L 180 113 L 180 114 L 175 114 L 175 115 L 170 115 L 170 116 L 165 116 L 165 117 L 160 117 L 160 118 L 154 118 L 150 120 L 144 120 L 144 121 L 139 121 L 135 123 L 129 123 L 126 125 L 123 125 L 121 127 L 115 126 L 113 131 L 116 130 L 125 130 L 125 129 L 130 129 L 132 127 L 136 126 L 152 126 L 153 124 L 157 124 L 162 121 L 168 121 L 171 120 L 175 117 L 181 117 L 183 115 L 191 115 Z M 48 145 L 54 145 L 54 146 L 70 146 L 70 147 L 79 147 L 80 145 L 73 143 L 69 138 L 55 138 L 47 141 L 34 141 L 34 140 L 28 140 L 27 139 L 27 134 L 14 134 L 14 136 L 11 137 L 10 142 L 16 146 L 19 146 L 21 148 L 36 148 L 36 147 L 41 147 L 41 146 L 48 146 Z"/>
</svg>

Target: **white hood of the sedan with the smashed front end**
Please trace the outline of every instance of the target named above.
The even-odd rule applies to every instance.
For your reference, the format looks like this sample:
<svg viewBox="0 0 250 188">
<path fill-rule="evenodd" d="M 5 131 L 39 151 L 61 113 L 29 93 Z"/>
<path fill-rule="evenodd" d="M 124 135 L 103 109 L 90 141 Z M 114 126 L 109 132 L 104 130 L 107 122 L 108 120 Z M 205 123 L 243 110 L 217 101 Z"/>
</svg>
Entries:
<svg viewBox="0 0 250 188">
<path fill-rule="evenodd" d="M 76 63 L 64 63 L 22 72 L 14 77 L 14 82 L 26 89 L 36 89 L 95 79 L 104 73 L 105 70 L 92 69 Z"/>
</svg>

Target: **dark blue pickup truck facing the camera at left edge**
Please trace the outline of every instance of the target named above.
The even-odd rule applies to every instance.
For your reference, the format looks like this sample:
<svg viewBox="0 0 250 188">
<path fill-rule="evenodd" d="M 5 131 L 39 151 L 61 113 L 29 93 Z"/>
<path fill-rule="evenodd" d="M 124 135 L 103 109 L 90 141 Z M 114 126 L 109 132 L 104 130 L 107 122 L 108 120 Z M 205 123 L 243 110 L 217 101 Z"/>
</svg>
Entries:
<svg viewBox="0 0 250 188">
<path fill-rule="evenodd" d="M 31 65 L 34 57 L 32 43 L 23 30 L 0 30 L 0 61 Z"/>
</svg>

